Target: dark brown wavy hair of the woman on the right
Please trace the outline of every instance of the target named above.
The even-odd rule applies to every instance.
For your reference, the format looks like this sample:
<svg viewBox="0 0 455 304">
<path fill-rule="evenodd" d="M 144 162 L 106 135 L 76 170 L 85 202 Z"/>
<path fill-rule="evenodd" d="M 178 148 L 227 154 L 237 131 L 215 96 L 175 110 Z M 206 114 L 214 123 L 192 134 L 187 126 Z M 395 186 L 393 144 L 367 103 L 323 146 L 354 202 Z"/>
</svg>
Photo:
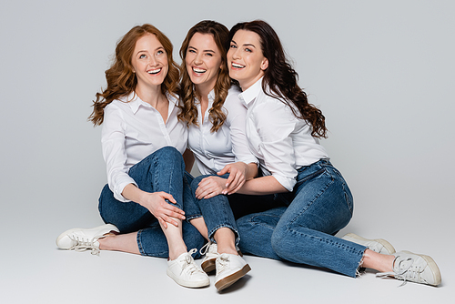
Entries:
<svg viewBox="0 0 455 304">
<path fill-rule="evenodd" d="M 308 103 L 307 94 L 298 86 L 298 74 L 288 63 L 274 29 L 262 20 L 238 23 L 229 32 L 227 40 L 229 44 L 238 30 L 247 30 L 259 35 L 262 54 L 268 59 L 268 68 L 264 71 L 262 82 L 264 92 L 288 105 L 296 117 L 305 119 L 312 127 L 311 136 L 326 138 L 328 132 L 326 118 L 319 108 Z M 267 86 L 271 92 L 267 90 Z M 289 102 L 297 107 L 297 110 Z"/>
</svg>

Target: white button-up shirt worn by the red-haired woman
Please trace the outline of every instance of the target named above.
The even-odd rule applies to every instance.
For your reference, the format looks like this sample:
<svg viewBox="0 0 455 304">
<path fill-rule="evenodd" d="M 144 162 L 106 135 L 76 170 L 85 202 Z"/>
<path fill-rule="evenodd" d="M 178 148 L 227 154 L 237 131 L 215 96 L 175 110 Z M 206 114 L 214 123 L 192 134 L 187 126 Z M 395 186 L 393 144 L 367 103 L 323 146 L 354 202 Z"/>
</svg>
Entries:
<svg viewBox="0 0 455 304">
<path fill-rule="evenodd" d="M 128 176 L 130 167 L 161 147 L 176 147 L 182 154 L 187 148 L 187 127 L 177 120 L 178 99 L 171 95 L 167 99 L 166 124 L 155 107 L 134 93 L 105 107 L 101 132 L 103 157 L 107 183 L 119 201 L 128 201 L 122 196 L 126 185 L 136 185 Z"/>
</svg>

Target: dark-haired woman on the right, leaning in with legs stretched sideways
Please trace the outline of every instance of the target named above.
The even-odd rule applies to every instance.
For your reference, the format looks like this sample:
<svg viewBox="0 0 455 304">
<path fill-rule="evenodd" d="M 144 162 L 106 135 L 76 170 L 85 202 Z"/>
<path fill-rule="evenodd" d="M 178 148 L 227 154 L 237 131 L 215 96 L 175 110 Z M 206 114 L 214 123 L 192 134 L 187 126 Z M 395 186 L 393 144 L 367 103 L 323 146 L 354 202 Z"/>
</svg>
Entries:
<svg viewBox="0 0 455 304">
<path fill-rule="evenodd" d="M 429 256 L 395 252 L 383 239 L 334 237 L 348 224 L 353 200 L 319 145 L 319 138 L 327 135 L 324 116 L 308 104 L 270 25 L 260 20 L 239 23 L 230 30 L 229 41 L 229 75 L 242 88 L 248 144 L 263 175 L 247 181 L 242 191 L 276 194 L 286 204 L 238 219 L 241 250 L 350 277 L 363 267 L 381 271 L 379 276 L 440 284 L 440 270 Z"/>
</svg>

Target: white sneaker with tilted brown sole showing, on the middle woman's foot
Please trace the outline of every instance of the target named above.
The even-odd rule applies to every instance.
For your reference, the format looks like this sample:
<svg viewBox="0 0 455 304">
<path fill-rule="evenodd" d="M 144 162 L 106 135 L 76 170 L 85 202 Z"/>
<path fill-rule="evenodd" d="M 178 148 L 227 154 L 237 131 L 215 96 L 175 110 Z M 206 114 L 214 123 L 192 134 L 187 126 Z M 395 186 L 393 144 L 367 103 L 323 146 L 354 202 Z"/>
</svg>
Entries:
<svg viewBox="0 0 455 304">
<path fill-rule="evenodd" d="M 228 253 L 218 256 L 216 268 L 215 287 L 218 291 L 228 288 L 251 270 L 245 259 Z"/>
</svg>

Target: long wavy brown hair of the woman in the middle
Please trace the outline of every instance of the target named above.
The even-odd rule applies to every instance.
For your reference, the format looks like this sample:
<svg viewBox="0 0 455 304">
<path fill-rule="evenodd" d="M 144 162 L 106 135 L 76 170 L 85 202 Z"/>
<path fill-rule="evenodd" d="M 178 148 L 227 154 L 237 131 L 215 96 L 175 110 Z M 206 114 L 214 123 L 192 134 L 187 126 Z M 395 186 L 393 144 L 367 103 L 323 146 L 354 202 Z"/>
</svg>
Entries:
<svg viewBox="0 0 455 304">
<path fill-rule="evenodd" d="M 186 121 L 188 126 L 191 124 L 197 125 L 197 107 L 195 106 L 195 99 L 199 98 L 200 100 L 200 96 L 197 96 L 191 78 L 188 76 L 186 64 L 189 41 L 196 33 L 213 35 L 215 43 L 221 53 L 221 68 L 218 70 L 217 83 L 214 87 L 215 100 L 213 101 L 212 107 L 208 110 L 208 118 L 213 125 L 210 131 L 217 132 L 226 120 L 226 114 L 223 112 L 222 107 L 227 97 L 227 91 L 231 86 L 231 79 L 227 70 L 226 60 L 227 35 L 229 34 L 229 30 L 225 25 L 221 25 L 216 21 L 204 20 L 191 27 L 180 47 L 180 57 L 182 58 L 182 65 L 180 66 L 182 71 L 180 97 L 183 101 L 183 105 L 181 106 L 178 118 L 182 121 Z"/>
</svg>

